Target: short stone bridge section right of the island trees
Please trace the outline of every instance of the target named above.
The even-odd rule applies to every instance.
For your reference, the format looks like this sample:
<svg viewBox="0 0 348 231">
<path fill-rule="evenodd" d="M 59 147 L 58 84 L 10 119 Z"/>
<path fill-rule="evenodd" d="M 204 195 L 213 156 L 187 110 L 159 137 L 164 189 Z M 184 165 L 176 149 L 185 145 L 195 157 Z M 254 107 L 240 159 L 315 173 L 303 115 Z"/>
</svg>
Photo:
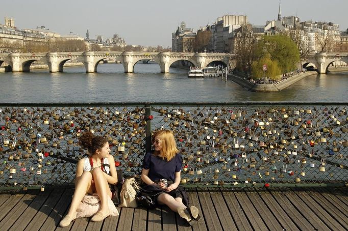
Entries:
<svg viewBox="0 0 348 231">
<path fill-rule="evenodd" d="M 348 64 L 348 53 L 310 53 L 307 60 L 302 64 L 303 67 L 306 67 L 309 63 L 312 63 L 317 67 L 319 74 L 325 74 L 328 72 L 329 66 L 335 61 Z"/>
</svg>

